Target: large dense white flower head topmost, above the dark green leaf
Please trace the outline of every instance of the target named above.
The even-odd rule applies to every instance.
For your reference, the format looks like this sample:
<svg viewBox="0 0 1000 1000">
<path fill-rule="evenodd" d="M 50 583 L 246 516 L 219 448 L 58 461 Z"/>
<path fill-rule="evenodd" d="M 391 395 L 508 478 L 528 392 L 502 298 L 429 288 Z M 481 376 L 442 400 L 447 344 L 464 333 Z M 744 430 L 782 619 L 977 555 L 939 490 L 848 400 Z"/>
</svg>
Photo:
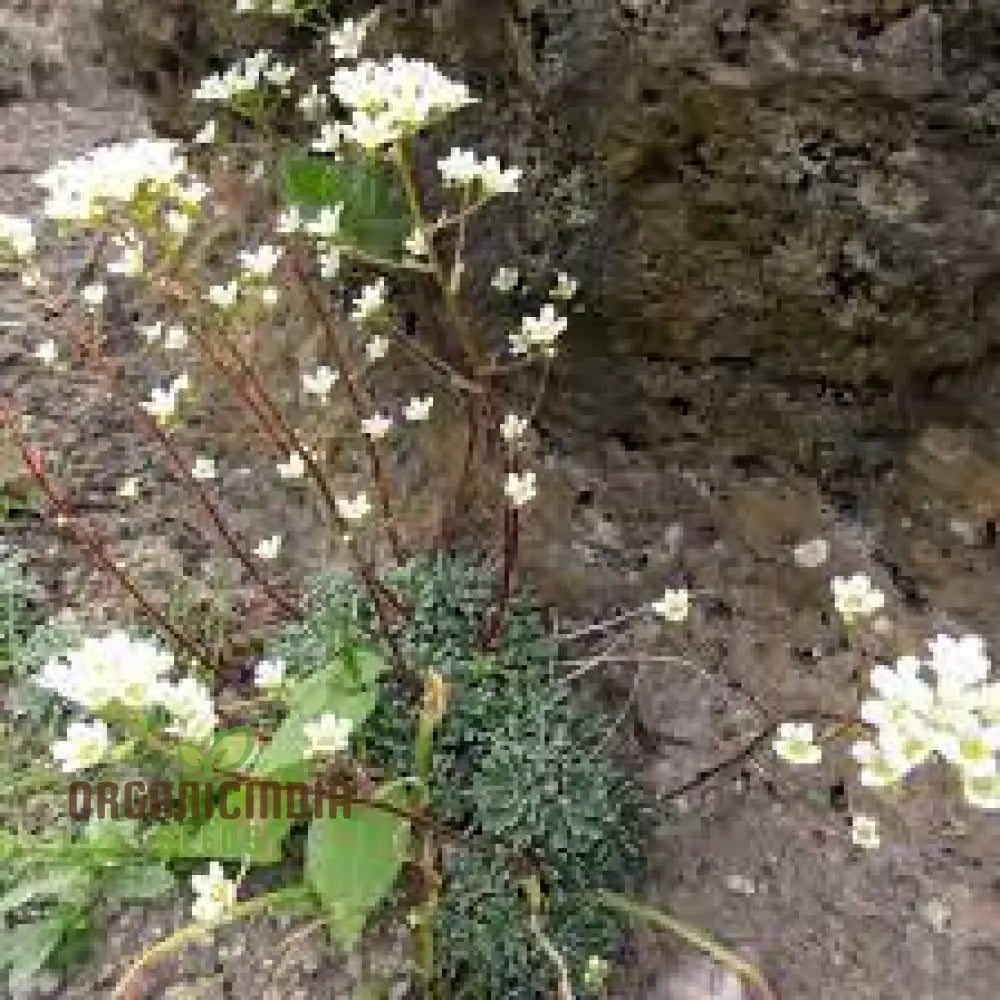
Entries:
<svg viewBox="0 0 1000 1000">
<path fill-rule="evenodd" d="M 387 146 L 475 101 L 464 84 L 449 80 L 436 66 L 401 55 L 339 68 L 330 91 L 352 112 L 344 135 L 366 149 Z"/>
</svg>

